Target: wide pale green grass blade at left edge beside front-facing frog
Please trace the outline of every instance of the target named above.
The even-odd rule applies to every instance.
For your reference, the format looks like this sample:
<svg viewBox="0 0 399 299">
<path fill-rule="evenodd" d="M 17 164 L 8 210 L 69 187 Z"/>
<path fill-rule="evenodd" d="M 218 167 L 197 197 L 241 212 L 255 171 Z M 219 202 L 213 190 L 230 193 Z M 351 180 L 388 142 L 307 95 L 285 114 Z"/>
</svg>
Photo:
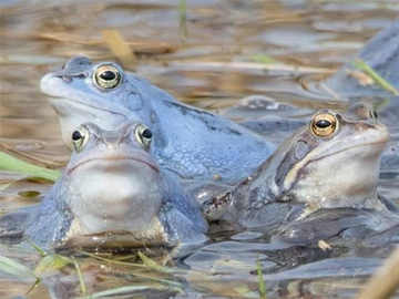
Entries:
<svg viewBox="0 0 399 299">
<path fill-rule="evenodd" d="M 44 167 L 29 164 L 19 158 L 10 156 L 1 151 L 0 151 L 0 169 L 39 176 L 53 182 L 55 182 L 61 175 L 59 171 L 48 169 Z"/>
</svg>

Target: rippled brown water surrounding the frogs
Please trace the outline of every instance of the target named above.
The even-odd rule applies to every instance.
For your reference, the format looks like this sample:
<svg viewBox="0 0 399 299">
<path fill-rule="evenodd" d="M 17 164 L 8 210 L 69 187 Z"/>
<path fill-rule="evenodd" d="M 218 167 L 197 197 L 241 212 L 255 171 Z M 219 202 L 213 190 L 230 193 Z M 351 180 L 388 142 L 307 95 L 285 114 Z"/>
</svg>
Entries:
<svg viewBox="0 0 399 299">
<path fill-rule="evenodd" d="M 178 1 L 165 2 L 2 1 L 2 145 L 32 156 L 41 165 L 60 167 L 68 161 L 69 152 L 61 141 L 55 113 L 40 93 L 39 81 L 75 54 L 114 60 L 102 35 L 104 29 L 117 29 L 134 50 L 135 60 L 124 63 L 125 69 L 135 70 L 181 101 L 226 113 L 238 100 L 263 94 L 305 107 L 308 114 L 320 106 L 341 104 L 317 99 L 299 81 L 331 74 L 399 11 L 397 1 L 188 1 L 185 37 L 184 28 L 180 27 Z M 277 62 L 266 66 L 256 60 L 259 55 Z M 226 115 L 237 121 L 256 116 L 244 111 L 229 111 Z M 390 130 L 392 141 L 398 142 L 399 124 Z M 283 138 L 278 134 L 272 137 L 277 142 Z M 380 192 L 397 202 L 398 172 L 383 172 L 380 184 Z M 0 183 L 22 177 L 2 172 Z M 12 210 L 37 203 L 49 188 L 49 184 L 17 182 L 1 190 L 0 208 Z M 41 194 L 21 196 L 27 190 Z M 89 293 L 122 286 L 147 286 L 145 290 L 117 298 L 171 295 L 258 298 L 257 259 L 267 274 L 327 255 L 318 248 L 294 252 L 269 250 L 267 245 L 254 241 L 258 237 L 254 231 L 239 233 L 227 240 L 216 236 L 214 243 L 177 262 L 180 269 L 185 269 L 182 272 L 142 270 L 94 258 L 79 260 Z M 40 260 L 39 256 L 4 250 L 1 254 L 23 258 L 23 264 L 31 268 Z M 273 280 L 268 283 L 266 278 L 266 283 L 270 297 L 304 293 L 351 297 L 365 276 L 348 279 L 321 275 L 318 279 L 283 280 L 283 285 Z M 162 279 L 176 285 L 163 283 Z M 0 297 L 23 295 L 31 285 L 29 279 L 2 276 Z M 65 298 L 78 293 L 73 268 L 63 268 L 47 274 L 30 297 Z"/>
</svg>

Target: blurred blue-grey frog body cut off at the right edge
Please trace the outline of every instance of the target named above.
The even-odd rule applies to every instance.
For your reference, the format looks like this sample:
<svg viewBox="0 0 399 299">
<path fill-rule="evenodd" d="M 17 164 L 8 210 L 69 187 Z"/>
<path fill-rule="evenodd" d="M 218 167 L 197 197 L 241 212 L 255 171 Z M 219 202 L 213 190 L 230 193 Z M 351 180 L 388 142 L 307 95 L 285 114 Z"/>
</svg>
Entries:
<svg viewBox="0 0 399 299">
<path fill-rule="evenodd" d="M 361 59 L 380 76 L 399 91 L 399 19 L 391 25 L 375 35 L 360 52 L 347 62 L 325 84 L 341 99 L 352 96 L 392 96 L 377 83 L 362 86 L 358 80 L 348 74 L 349 71 L 359 70 L 354 65 L 356 59 Z"/>
</svg>

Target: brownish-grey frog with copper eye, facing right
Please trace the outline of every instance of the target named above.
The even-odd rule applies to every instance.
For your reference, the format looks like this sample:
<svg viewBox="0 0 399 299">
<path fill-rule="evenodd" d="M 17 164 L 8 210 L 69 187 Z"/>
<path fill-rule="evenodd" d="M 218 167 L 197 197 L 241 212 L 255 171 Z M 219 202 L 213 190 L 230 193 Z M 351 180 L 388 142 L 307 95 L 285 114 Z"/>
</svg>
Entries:
<svg viewBox="0 0 399 299">
<path fill-rule="evenodd" d="M 319 208 L 386 209 L 376 189 L 389 134 L 361 105 L 346 115 L 317 112 L 248 178 L 205 202 L 205 214 L 253 227 L 282 220 L 288 212 L 297 218 Z M 293 206 L 301 207 L 297 215 Z"/>
</svg>

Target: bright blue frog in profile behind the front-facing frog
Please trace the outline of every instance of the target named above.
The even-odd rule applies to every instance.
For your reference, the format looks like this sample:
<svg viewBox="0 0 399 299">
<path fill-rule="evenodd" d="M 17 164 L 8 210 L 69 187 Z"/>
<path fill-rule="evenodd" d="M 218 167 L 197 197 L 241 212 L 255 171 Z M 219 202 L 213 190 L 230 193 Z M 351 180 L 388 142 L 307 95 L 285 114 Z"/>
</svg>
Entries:
<svg viewBox="0 0 399 299">
<path fill-rule="evenodd" d="M 104 73 L 109 72 L 109 73 Z M 120 74 L 108 84 L 101 74 Z M 111 79 L 110 79 L 111 78 Z M 114 75 L 106 78 L 112 81 Z M 101 81 L 102 80 L 102 81 Z M 114 85 L 114 86 L 113 86 Z M 112 86 L 112 87 L 110 87 Z M 75 56 L 41 80 L 41 90 L 59 115 L 63 140 L 74 127 L 93 122 L 117 130 L 131 121 L 149 126 L 152 153 L 167 172 L 186 179 L 233 184 L 247 176 L 275 150 L 260 135 L 213 113 L 177 102 L 143 78 L 113 62 L 93 64 Z"/>
</svg>

